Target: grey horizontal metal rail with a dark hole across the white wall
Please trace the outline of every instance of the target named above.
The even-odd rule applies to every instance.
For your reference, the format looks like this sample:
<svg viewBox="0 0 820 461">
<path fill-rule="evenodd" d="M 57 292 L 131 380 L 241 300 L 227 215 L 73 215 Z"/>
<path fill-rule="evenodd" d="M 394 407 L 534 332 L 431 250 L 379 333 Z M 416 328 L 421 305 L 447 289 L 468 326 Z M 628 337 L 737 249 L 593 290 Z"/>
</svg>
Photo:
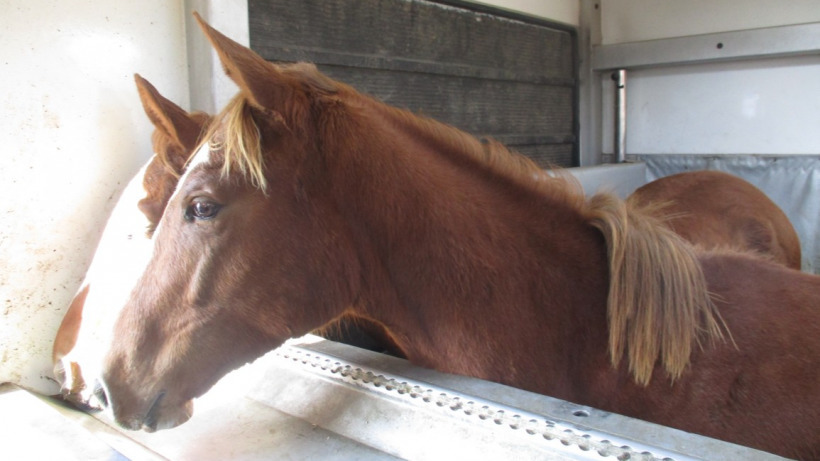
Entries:
<svg viewBox="0 0 820 461">
<path fill-rule="evenodd" d="M 596 46 L 596 71 L 820 54 L 820 23 Z"/>
</svg>

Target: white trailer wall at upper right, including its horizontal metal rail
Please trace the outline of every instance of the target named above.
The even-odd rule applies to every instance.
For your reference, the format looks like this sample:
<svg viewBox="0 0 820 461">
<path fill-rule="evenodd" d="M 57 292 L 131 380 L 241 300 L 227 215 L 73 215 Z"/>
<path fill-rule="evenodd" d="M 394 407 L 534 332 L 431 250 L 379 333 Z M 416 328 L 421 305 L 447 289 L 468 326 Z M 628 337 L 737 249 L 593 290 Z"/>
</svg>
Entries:
<svg viewBox="0 0 820 461">
<path fill-rule="evenodd" d="M 596 62 L 628 69 L 627 153 L 820 154 L 819 6 L 601 2 Z M 608 73 L 601 75 L 604 153 L 613 151 Z"/>
</svg>

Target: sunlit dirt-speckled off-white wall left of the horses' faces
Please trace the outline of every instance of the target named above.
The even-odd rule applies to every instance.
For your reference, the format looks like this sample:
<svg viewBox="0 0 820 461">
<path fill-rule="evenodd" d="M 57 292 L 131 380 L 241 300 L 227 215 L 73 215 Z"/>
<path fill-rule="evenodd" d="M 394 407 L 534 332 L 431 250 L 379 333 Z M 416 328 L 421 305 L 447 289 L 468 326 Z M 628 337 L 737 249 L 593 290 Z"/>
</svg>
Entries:
<svg viewBox="0 0 820 461">
<path fill-rule="evenodd" d="M 0 382 L 53 391 L 51 340 L 151 155 L 133 74 L 188 104 L 182 2 L 0 0 Z"/>
</svg>

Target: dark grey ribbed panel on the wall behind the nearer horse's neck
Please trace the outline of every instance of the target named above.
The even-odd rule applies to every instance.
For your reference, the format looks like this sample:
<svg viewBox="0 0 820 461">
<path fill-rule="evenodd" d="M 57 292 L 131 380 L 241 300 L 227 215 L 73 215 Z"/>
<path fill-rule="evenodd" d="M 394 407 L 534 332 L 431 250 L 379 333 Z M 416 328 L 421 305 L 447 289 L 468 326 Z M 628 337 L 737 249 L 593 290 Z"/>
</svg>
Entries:
<svg viewBox="0 0 820 461">
<path fill-rule="evenodd" d="M 577 163 L 572 30 L 460 2 L 249 0 L 248 8 L 251 48 L 268 60 L 313 62 L 541 165 Z"/>
</svg>

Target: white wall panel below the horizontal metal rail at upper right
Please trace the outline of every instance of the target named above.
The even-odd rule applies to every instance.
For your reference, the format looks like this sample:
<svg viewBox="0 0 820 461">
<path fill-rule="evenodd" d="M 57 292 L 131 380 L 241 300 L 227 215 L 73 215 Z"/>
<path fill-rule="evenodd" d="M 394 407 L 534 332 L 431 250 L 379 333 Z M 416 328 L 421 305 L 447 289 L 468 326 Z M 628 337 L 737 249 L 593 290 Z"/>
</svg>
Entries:
<svg viewBox="0 0 820 461">
<path fill-rule="evenodd" d="M 820 56 L 630 71 L 627 152 L 820 154 L 818 82 Z"/>
</svg>

